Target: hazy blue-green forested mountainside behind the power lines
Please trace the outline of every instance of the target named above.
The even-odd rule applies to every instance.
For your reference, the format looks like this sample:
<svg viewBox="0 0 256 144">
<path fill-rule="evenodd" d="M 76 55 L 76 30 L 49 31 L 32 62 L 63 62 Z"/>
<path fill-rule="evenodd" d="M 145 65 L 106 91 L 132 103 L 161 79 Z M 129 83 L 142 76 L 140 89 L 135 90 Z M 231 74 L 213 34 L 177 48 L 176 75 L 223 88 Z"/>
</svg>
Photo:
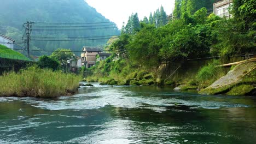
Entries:
<svg viewBox="0 0 256 144">
<path fill-rule="evenodd" d="M 56 23 L 97 23 L 109 22 L 84 0 L 0 0 L 0 33 L 21 41 L 22 25 L 26 21 Z M 114 24 L 114 23 L 112 23 Z M 115 24 L 114 24 L 115 25 Z M 36 37 L 95 37 L 119 34 L 118 28 L 84 29 L 83 31 L 32 31 Z M 80 51 L 84 45 L 103 45 L 107 39 L 88 41 L 32 41 L 32 49 L 53 50 L 59 47 Z M 34 52 L 34 55 L 45 54 Z"/>
</svg>

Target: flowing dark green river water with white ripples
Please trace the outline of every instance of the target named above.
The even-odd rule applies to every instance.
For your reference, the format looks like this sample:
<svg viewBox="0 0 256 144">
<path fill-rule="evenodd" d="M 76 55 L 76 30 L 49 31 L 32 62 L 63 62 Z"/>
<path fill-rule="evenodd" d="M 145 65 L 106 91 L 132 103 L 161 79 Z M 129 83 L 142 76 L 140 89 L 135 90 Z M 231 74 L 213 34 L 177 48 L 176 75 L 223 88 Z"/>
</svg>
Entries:
<svg viewBox="0 0 256 144">
<path fill-rule="evenodd" d="M 0 98 L 0 143 L 255 143 L 256 98 L 171 87 L 80 88 Z"/>
</svg>

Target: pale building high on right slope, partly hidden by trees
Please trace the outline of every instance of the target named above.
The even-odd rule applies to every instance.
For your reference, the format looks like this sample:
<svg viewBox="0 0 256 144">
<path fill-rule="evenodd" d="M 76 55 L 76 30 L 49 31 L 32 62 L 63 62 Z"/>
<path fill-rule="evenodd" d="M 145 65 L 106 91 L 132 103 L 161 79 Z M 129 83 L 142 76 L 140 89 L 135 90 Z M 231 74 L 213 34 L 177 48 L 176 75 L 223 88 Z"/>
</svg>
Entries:
<svg viewBox="0 0 256 144">
<path fill-rule="evenodd" d="M 217 1 L 213 4 L 213 13 L 220 17 L 230 18 L 232 15 L 229 13 L 229 9 L 232 7 L 232 0 Z"/>
</svg>

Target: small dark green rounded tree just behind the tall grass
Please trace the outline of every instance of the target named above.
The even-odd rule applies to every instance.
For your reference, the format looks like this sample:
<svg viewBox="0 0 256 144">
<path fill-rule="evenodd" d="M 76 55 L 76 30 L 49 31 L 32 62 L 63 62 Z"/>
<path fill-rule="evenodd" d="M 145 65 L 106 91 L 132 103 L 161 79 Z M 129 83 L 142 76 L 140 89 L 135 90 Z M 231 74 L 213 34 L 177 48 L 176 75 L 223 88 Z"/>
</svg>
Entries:
<svg viewBox="0 0 256 144">
<path fill-rule="evenodd" d="M 57 70 L 60 68 L 60 62 L 58 62 L 54 58 L 50 58 L 48 56 L 41 56 L 39 57 L 39 61 L 37 62 L 40 68 L 49 68 L 53 70 Z"/>
</svg>

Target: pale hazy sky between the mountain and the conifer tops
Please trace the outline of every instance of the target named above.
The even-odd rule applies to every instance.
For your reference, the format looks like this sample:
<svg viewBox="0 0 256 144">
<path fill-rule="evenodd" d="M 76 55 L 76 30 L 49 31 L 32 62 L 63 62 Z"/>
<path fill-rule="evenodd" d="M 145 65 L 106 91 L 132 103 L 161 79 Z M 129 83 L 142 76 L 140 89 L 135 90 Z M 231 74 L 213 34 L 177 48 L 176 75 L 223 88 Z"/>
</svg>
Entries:
<svg viewBox="0 0 256 144">
<path fill-rule="evenodd" d="M 98 13 L 101 13 L 110 21 L 117 23 L 120 29 L 123 22 L 127 22 L 132 13 L 138 13 L 139 20 L 144 16 L 149 17 L 153 12 L 164 7 L 167 15 L 172 13 L 174 0 L 85 0 Z"/>
</svg>

